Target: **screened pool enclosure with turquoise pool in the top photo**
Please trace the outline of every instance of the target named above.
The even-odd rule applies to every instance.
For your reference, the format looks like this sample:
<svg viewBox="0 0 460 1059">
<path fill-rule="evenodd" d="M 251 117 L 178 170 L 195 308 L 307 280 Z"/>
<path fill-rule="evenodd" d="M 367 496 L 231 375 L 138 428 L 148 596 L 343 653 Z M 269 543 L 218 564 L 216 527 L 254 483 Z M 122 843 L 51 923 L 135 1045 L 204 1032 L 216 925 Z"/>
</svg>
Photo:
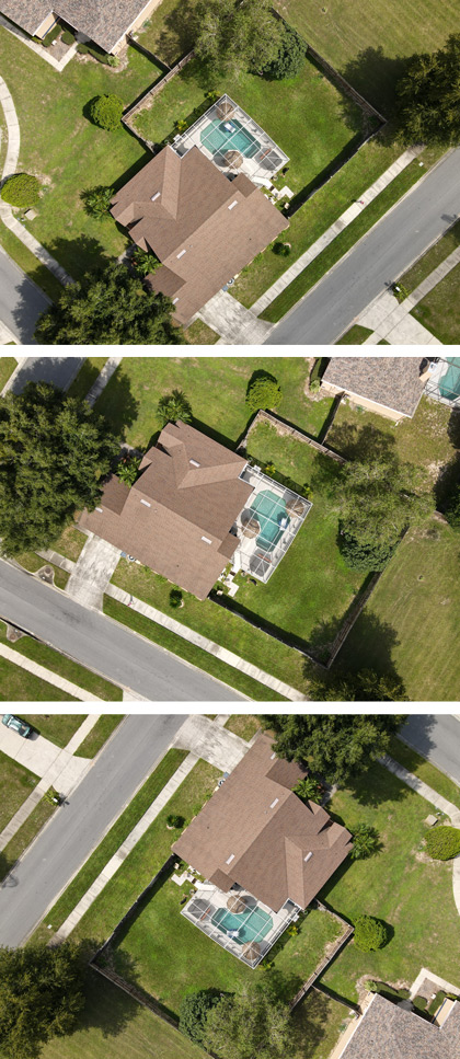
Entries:
<svg viewBox="0 0 460 1059">
<path fill-rule="evenodd" d="M 244 173 L 253 183 L 266 186 L 289 161 L 272 137 L 227 94 L 185 133 L 175 136 L 171 146 L 181 157 L 198 147 L 226 176 Z"/>
</svg>

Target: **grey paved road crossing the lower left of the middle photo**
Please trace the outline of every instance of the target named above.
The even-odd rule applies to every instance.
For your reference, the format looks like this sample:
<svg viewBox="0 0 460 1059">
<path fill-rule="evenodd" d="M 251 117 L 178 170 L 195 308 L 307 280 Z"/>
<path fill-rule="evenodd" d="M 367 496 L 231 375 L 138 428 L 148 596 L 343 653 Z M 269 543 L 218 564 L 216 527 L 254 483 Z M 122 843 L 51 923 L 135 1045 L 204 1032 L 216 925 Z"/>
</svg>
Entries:
<svg viewBox="0 0 460 1059">
<path fill-rule="evenodd" d="M 153 702 L 241 701 L 237 691 L 2 560 L 0 617 Z"/>
</svg>

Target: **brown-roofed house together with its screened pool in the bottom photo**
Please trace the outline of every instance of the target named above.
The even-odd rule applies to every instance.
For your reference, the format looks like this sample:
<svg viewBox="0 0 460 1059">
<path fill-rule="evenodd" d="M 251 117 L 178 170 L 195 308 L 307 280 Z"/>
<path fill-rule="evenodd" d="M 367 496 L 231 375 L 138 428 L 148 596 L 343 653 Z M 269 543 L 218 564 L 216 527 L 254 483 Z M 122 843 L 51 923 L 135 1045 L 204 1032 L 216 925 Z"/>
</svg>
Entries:
<svg viewBox="0 0 460 1059">
<path fill-rule="evenodd" d="M 258 736 L 172 847 L 205 878 L 183 914 L 250 966 L 352 849 L 344 827 L 294 794 L 303 775 Z"/>
</svg>

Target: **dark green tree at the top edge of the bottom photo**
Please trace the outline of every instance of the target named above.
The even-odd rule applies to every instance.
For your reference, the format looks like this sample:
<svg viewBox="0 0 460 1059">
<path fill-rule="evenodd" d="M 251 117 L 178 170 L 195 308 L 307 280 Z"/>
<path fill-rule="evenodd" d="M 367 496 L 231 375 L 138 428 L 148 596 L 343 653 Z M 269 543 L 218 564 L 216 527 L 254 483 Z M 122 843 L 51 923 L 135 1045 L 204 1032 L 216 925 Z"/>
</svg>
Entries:
<svg viewBox="0 0 460 1059">
<path fill-rule="evenodd" d="M 327 781 L 346 783 L 387 753 L 401 714 L 269 714 L 263 725 L 275 732 L 274 750 Z"/>
</svg>

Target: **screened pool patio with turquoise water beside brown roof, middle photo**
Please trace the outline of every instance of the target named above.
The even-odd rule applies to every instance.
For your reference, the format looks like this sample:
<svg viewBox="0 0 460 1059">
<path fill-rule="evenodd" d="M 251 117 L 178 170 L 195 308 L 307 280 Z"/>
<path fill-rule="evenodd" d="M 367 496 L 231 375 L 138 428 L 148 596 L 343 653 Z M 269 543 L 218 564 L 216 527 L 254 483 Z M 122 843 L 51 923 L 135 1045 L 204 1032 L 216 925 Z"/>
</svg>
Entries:
<svg viewBox="0 0 460 1059">
<path fill-rule="evenodd" d="M 232 568 L 266 583 L 286 555 L 312 505 L 268 477 L 257 465 L 246 464 L 241 479 L 252 485 L 253 493 L 232 528 L 239 538 Z"/>
</svg>

